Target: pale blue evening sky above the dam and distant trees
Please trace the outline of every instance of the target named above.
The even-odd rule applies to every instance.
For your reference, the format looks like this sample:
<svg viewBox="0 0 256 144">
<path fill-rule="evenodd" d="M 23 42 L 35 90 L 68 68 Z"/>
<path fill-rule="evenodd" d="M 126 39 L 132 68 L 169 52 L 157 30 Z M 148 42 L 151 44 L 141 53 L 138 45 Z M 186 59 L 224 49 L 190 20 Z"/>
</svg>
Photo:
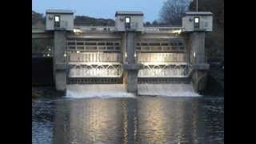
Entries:
<svg viewBox="0 0 256 144">
<path fill-rule="evenodd" d="M 76 10 L 75 15 L 112 18 L 116 10 L 136 10 L 144 13 L 144 22 L 159 18 L 166 0 L 32 0 L 32 10 L 46 13 L 47 9 Z"/>
</svg>

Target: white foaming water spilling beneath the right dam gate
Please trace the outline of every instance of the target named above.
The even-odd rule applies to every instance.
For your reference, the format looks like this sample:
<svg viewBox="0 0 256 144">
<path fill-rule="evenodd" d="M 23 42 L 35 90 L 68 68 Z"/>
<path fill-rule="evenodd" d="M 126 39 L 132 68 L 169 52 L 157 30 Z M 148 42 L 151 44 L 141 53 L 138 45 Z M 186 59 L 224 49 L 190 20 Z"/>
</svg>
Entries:
<svg viewBox="0 0 256 144">
<path fill-rule="evenodd" d="M 199 97 L 192 84 L 139 84 L 138 95 Z"/>
</svg>

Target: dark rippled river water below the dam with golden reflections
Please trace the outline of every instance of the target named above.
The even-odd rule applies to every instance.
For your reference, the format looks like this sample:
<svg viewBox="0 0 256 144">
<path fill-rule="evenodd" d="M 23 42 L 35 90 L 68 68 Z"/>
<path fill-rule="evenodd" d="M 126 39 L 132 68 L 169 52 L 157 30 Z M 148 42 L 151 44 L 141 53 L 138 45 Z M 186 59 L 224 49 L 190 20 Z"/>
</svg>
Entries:
<svg viewBox="0 0 256 144">
<path fill-rule="evenodd" d="M 224 143 L 223 98 L 60 98 L 32 105 L 34 144 Z"/>
</svg>

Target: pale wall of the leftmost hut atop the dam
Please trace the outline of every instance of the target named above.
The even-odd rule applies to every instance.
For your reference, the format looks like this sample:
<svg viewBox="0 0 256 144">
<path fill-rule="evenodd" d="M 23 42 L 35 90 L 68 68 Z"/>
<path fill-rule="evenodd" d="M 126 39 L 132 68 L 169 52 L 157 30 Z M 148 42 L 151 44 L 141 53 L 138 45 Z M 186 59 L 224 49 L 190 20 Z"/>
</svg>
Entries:
<svg viewBox="0 0 256 144">
<path fill-rule="evenodd" d="M 74 30 L 73 14 L 46 14 L 46 30 L 54 30 L 54 15 L 60 16 L 60 28 Z"/>
</svg>

